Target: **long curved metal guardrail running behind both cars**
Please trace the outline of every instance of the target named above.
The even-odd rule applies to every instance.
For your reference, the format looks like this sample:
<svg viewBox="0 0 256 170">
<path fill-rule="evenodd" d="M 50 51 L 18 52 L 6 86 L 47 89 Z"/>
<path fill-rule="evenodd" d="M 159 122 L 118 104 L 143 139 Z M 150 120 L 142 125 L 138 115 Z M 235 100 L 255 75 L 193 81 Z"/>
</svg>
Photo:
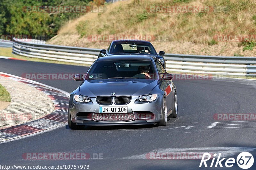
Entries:
<svg viewBox="0 0 256 170">
<path fill-rule="evenodd" d="M 100 49 L 35 44 L 13 38 L 12 52 L 17 55 L 70 63 L 92 64 Z M 166 70 L 191 74 L 256 76 L 256 57 L 165 54 Z"/>
</svg>

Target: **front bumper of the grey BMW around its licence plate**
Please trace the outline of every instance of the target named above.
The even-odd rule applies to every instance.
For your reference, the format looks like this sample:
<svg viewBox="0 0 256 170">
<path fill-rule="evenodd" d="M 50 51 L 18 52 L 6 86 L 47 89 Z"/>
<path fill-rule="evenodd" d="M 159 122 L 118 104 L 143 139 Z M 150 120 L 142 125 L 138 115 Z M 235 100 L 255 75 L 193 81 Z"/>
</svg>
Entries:
<svg viewBox="0 0 256 170">
<path fill-rule="evenodd" d="M 96 102 L 96 98 L 91 98 L 89 103 L 80 103 L 73 100 L 73 95 L 70 96 L 69 113 L 71 121 L 76 125 L 146 125 L 155 124 L 163 119 L 161 115 L 163 95 L 157 96 L 157 99 L 152 102 L 136 101 L 137 97 L 132 97 L 129 104 L 126 105 L 100 105 Z M 114 97 L 113 97 L 114 100 Z M 127 107 L 128 113 L 132 113 L 134 119 L 128 121 L 98 121 L 93 119 L 94 114 L 99 113 L 99 107 Z M 148 117 L 148 115 L 152 115 Z"/>
</svg>

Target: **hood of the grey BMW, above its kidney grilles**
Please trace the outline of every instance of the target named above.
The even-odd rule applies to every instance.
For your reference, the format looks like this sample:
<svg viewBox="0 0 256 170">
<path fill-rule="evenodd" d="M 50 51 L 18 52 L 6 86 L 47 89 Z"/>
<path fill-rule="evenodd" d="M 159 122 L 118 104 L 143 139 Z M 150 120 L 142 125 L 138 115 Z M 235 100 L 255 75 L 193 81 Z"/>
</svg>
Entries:
<svg viewBox="0 0 256 170">
<path fill-rule="evenodd" d="M 138 97 L 149 94 L 158 84 L 158 80 L 149 79 L 97 79 L 85 80 L 79 87 L 80 94 L 89 97 L 126 95 Z"/>
</svg>

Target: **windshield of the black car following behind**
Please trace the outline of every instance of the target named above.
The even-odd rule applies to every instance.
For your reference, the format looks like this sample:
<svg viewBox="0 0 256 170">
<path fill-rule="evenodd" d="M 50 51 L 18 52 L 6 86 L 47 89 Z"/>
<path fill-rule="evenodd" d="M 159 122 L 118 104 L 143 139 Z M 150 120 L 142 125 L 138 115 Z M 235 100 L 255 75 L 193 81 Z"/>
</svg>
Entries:
<svg viewBox="0 0 256 170">
<path fill-rule="evenodd" d="M 110 54 L 151 54 L 156 55 L 154 47 L 146 43 L 116 43 L 110 49 Z"/>
</svg>

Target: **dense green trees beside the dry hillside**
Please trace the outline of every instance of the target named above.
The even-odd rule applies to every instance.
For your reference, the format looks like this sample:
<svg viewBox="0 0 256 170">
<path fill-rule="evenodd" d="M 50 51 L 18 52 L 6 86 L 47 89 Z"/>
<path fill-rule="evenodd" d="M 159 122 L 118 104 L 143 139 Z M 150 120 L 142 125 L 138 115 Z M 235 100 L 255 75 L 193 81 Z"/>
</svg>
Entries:
<svg viewBox="0 0 256 170">
<path fill-rule="evenodd" d="M 28 12 L 28 6 L 87 6 L 92 0 L 1 0 L 0 34 L 45 35 L 57 34 L 68 20 L 84 13 Z"/>
</svg>

